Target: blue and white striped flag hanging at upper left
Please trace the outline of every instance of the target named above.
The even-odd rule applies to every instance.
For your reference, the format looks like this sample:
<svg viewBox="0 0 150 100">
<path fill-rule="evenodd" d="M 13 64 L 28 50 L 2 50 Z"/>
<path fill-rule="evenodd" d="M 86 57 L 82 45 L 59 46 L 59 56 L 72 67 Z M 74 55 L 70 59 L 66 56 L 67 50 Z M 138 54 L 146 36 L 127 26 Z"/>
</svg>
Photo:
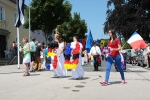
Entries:
<svg viewBox="0 0 150 100">
<path fill-rule="evenodd" d="M 17 0 L 17 10 L 18 10 L 18 17 L 16 19 L 15 27 L 20 27 L 22 24 L 25 23 L 24 0 Z"/>
</svg>

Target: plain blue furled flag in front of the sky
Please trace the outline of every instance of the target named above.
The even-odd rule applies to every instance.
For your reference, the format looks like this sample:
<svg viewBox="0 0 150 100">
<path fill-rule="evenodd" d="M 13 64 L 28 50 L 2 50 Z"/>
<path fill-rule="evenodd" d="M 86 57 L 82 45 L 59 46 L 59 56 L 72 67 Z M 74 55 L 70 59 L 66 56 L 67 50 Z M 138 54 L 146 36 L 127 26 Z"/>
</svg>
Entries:
<svg viewBox="0 0 150 100">
<path fill-rule="evenodd" d="M 92 37 L 91 30 L 90 30 L 87 36 L 86 46 L 85 46 L 87 52 L 90 52 L 92 46 L 93 46 L 93 37 Z"/>
</svg>

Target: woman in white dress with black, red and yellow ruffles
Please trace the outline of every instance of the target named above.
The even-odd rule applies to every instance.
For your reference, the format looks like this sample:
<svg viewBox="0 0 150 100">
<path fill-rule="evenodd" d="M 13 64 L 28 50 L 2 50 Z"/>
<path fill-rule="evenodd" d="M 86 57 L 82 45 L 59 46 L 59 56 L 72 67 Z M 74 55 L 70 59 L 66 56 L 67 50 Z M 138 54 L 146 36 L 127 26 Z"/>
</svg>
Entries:
<svg viewBox="0 0 150 100">
<path fill-rule="evenodd" d="M 74 36 L 71 44 L 68 44 L 65 52 L 65 64 L 64 67 L 67 70 L 72 70 L 72 78 L 79 79 L 84 75 L 82 68 L 82 44 L 78 42 L 78 37 Z M 72 55 L 72 57 L 71 57 Z M 70 57 L 72 59 L 70 59 Z"/>
</svg>

